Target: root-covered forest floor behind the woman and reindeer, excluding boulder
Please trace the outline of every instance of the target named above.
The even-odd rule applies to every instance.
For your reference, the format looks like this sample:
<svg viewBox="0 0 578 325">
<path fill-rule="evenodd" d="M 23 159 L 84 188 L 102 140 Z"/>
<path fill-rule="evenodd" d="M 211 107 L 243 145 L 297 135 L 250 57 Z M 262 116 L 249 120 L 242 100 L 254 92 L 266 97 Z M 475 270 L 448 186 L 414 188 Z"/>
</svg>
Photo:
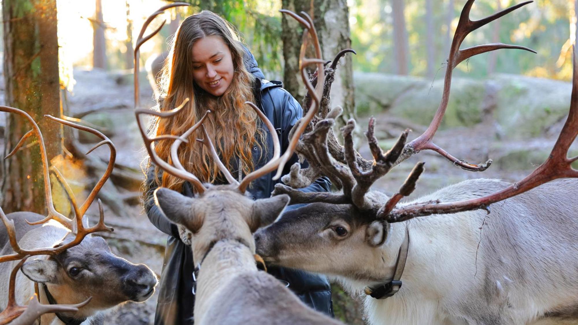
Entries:
<svg viewBox="0 0 578 325">
<path fill-rule="evenodd" d="M 86 71 L 76 69 L 74 72 L 76 85 L 73 93 L 68 95 L 67 106 L 69 115 L 79 116 L 83 112 L 95 110 L 90 115 L 82 118 L 90 123 L 106 128 L 106 134 L 113 141 L 117 149 L 117 169 L 122 172 L 113 176 L 108 181 L 108 186 L 103 188 L 103 201 L 105 201 L 106 223 L 114 228 L 114 232 L 101 234 L 106 238 L 113 252 L 127 258 L 132 263 L 144 263 L 160 276 L 162 269 L 164 246 L 166 235 L 152 226 L 143 214 L 142 206 L 138 200 L 138 182 L 143 177 L 141 163 L 146 157 L 143 150 L 142 139 L 136 126 L 133 113 L 133 87 L 130 73 L 110 73 L 98 70 Z M 152 91 L 149 84 L 141 80 L 141 103 L 142 106 L 153 106 Z M 376 114 L 376 133 L 384 149 L 388 149 L 395 141 L 387 134 L 397 135 L 403 128 L 412 123 L 399 123 L 399 119 L 392 119 L 388 113 Z M 358 119 L 360 128 L 366 125 L 367 118 Z M 395 121 L 393 123 L 392 121 Z M 425 127 L 415 126 L 409 136 L 415 138 Z M 423 128 L 423 130 L 421 130 Z M 495 124 L 492 121 L 484 121 L 473 127 L 457 127 L 439 131 L 435 136 L 435 142 L 455 157 L 460 157 L 472 163 L 484 162 L 488 158 L 494 159 L 495 163 L 483 173 L 467 172 L 453 166 L 451 162 L 433 152 L 423 152 L 410 158 L 408 161 L 392 169 L 384 178 L 378 180 L 373 189 L 392 194 L 401 184 L 413 165 L 417 161 L 426 161 L 426 171 L 418 182 L 417 189 L 412 197 L 430 193 L 433 190 L 449 184 L 460 182 L 469 178 L 499 178 L 507 182 L 516 182 L 527 175 L 537 164 L 524 163 L 528 155 L 538 154 L 538 158 L 532 156 L 532 161 L 545 158 L 555 141 L 556 132 L 543 135 L 539 138 L 523 139 L 517 141 L 496 141 Z M 559 130 L 559 129 L 558 129 Z M 79 149 L 89 149 L 90 139 L 81 139 Z M 85 143 L 83 143 L 85 142 Z M 366 141 L 358 143 L 360 152 L 366 158 L 370 157 Z M 86 152 L 86 150 L 85 150 Z M 542 154 L 543 153 L 543 154 Z M 99 148 L 90 156 L 98 157 L 103 162 L 108 161 L 108 149 Z M 543 155 L 546 155 L 542 158 Z M 131 180 L 132 179 L 132 180 Z M 109 201 L 104 200 L 108 195 Z M 122 198 L 117 204 L 106 204 L 110 197 Z M 88 212 L 93 218 L 98 215 L 95 204 Z M 94 220 L 94 219 L 93 219 Z M 154 319 L 157 294 L 146 302 L 124 304 L 114 311 L 107 313 L 105 324 L 152 324 Z M 344 317 L 347 323 L 362 324 L 362 316 L 358 301 L 344 298 L 342 293 L 334 297 L 336 304 L 342 311 L 339 315 Z M 192 308 L 192 306 L 191 306 Z"/>
</svg>

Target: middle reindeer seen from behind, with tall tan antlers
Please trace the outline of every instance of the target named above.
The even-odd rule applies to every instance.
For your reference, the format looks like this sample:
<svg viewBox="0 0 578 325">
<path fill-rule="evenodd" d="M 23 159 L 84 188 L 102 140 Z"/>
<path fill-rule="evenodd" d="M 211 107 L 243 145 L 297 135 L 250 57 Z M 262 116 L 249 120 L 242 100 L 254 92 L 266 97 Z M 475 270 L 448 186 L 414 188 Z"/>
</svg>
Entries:
<svg viewBox="0 0 578 325">
<path fill-rule="evenodd" d="M 162 8 L 158 12 L 160 11 Z M 305 19 L 301 19 L 294 13 L 290 14 L 297 17 L 305 26 L 313 42 L 317 44 L 316 53 L 320 56 L 321 49 L 318 46 L 317 33 L 312 19 L 306 14 L 304 14 Z M 145 29 L 146 25 L 143 26 L 139 39 L 142 38 Z M 154 35 L 154 32 L 151 35 Z M 142 39 L 148 38 L 150 35 Z M 135 51 L 138 51 L 140 45 L 142 42 L 138 41 Z M 306 45 L 307 40 L 304 40 L 303 47 L 305 48 Z M 135 53 L 135 62 L 138 62 L 138 53 Z M 323 61 L 307 59 L 302 60 L 302 69 L 305 69 L 305 65 L 312 63 L 323 68 Z M 318 88 L 317 91 L 320 92 L 321 86 Z M 135 87 L 135 99 L 138 98 L 138 87 Z M 160 207 L 165 216 L 192 233 L 192 252 L 199 262 L 192 275 L 196 282 L 195 323 L 340 324 L 328 316 L 309 309 L 279 280 L 258 270 L 255 265 L 255 261 L 259 261 L 260 258 L 255 256 L 252 234 L 257 228 L 266 226 L 277 219 L 287 206 L 289 197 L 278 195 L 253 201 L 246 195 L 246 189 L 252 180 L 271 173 L 275 169 L 282 171 L 287 157 L 292 156 L 293 149 L 288 149 L 281 156 L 279 138 L 273 124 L 253 103 L 246 102 L 246 104 L 255 110 L 262 123 L 268 128 L 272 136 L 273 158 L 263 167 L 246 175 L 239 183 L 220 161 L 208 133 L 202 126 L 210 111 L 180 136 L 157 135 L 149 138 L 143 125 L 142 115 L 171 117 L 179 113 L 183 105 L 166 112 L 157 112 L 138 109 L 138 103 L 135 103 L 136 120 L 151 162 L 161 167 L 164 172 L 187 180 L 195 189 L 194 198 L 188 198 L 162 187 L 154 192 L 155 204 Z M 304 119 L 311 119 L 314 113 L 315 109 L 310 109 L 309 115 Z M 305 126 L 306 123 L 302 125 Z M 181 143 L 186 142 L 187 138 L 197 130 L 203 135 L 203 139 L 198 141 L 208 148 L 214 162 L 228 180 L 228 185 L 203 184 L 181 165 L 177 150 Z M 301 132 L 295 132 L 294 138 L 298 138 Z M 172 164 L 158 157 L 154 149 L 155 141 L 168 139 L 174 141 L 171 146 Z"/>
</svg>

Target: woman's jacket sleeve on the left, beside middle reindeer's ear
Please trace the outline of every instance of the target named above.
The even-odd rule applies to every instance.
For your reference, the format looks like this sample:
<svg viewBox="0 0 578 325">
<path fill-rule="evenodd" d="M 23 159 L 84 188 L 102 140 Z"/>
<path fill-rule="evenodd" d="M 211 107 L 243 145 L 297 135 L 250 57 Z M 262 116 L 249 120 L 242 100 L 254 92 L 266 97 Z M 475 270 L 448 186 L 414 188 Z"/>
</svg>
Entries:
<svg viewBox="0 0 578 325">
<path fill-rule="evenodd" d="M 158 177 L 162 177 L 162 171 Z M 146 173 L 146 180 L 144 181 L 144 212 L 146 212 L 150 222 L 157 227 L 158 230 L 180 240 L 177 226 L 167 219 L 161 209 L 154 204 L 154 190 L 156 190 L 157 187 L 157 183 L 154 181 L 154 167 L 149 167 Z"/>
</svg>

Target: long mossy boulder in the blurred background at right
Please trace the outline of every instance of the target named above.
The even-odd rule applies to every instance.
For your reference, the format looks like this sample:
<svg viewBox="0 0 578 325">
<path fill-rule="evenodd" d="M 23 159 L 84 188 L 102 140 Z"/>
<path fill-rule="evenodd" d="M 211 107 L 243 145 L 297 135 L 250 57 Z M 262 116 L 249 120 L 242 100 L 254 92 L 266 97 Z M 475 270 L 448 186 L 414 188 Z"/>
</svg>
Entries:
<svg viewBox="0 0 578 325">
<path fill-rule="evenodd" d="M 354 73 L 358 113 L 388 114 L 428 125 L 442 98 L 443 78 L 430 80 L 383 73 Z M 572 84 L 519 75 L 478 80 L 454 77 L 440 125 L 470 127 L 492 119 L 505 138 L 544 135 L 568 114 Z"/>
</svg>

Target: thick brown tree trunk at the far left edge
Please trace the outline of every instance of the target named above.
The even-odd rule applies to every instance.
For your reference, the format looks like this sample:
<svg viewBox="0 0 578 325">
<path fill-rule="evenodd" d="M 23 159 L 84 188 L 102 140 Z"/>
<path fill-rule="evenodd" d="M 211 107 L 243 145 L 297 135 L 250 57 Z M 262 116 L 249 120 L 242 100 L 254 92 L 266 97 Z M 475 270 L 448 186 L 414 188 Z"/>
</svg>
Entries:
<svg viewBox="0 0 578 325">
<path fill-rule="evenodd" d="M 61 115 L 56 0 L 4 0 L 2 16 L 6 105 L 24 110 L 38 123 L 50 161 L 62 153 L 61 125 L 43 117 Z M 5 155 L 31 128 L 23 117 L 7 115 Z M 5 212 L 46 213 L 38 145 L 4 160 L 2 173 Z"/>
</svg>

